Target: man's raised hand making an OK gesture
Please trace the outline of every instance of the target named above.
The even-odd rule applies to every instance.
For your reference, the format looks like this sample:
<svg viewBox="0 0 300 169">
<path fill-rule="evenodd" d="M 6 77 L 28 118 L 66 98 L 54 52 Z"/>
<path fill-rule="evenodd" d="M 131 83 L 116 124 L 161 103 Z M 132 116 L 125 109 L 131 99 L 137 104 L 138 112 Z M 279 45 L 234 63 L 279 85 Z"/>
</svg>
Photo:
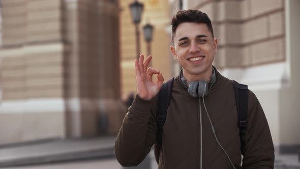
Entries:
<svg viewBox="0 0 300 169">
<path fill-rule="evenodd" d="M 162 88 L 164 77 L 162 73 L 151 67 L 147 68 L 152 56 L 149 55 L 144 62 L 144 55 L 141 54 L 139 61 L 135 60 L 135 74 L 136 74 L 136 89 L 137 94 L 145 100 L 150 100 L 157 95 Z M 152 81 L 153 74 L 157 74 L 157 81 Z"/>
</svg>

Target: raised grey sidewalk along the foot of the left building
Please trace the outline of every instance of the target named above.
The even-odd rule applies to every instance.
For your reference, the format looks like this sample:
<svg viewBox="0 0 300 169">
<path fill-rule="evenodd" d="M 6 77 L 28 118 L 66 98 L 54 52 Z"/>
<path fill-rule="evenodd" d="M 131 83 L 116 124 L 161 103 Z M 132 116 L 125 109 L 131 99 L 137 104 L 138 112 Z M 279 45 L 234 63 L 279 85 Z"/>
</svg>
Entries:
<svg viewBox="0 0 300 169">
<path fill-rule="evenodd" d="M 115 136 L 0 145 L 0 167 L 114 158 Z"/>
</svg>

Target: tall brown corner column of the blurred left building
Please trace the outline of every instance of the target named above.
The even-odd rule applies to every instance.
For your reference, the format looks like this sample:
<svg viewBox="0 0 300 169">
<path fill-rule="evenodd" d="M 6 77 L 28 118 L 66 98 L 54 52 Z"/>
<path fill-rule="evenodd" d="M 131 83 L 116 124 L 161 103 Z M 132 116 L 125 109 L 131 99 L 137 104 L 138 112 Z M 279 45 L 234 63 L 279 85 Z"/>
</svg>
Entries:
<svg viewBox="0 0 300 169">
<path fill-rule="evenodd" d="M 71 137 L 116 134 L 121 102 L 117 1 L 65 1 L 66 123 Z"/>
</svg>

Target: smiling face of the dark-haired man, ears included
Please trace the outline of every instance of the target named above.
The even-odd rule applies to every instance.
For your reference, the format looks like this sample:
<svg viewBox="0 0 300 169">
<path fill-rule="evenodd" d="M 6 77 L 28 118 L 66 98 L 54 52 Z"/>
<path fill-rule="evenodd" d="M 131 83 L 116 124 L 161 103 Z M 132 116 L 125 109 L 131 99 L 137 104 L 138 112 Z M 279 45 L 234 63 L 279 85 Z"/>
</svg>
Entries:
<svg viewBox="0 0 300 169">
<path fill-rule="evenodd" d="M 217 44 L 205 23 L 185 22 L 177 26 L 171 51 L 185 76 L 205 76 L 212 70 Z"/>
</svg>

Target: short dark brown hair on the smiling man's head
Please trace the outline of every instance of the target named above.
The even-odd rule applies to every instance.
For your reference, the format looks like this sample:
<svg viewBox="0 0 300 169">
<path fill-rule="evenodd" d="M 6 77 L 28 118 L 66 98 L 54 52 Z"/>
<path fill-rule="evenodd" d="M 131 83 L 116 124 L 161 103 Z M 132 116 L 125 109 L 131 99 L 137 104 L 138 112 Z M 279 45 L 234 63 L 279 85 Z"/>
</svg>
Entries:
<svg viewBox="0 0 300 169">
<path fill-rule="evenodd" d="M 214 37 L 214 30 L 212 26 L 211 19 L 206 15 L 206 13 L 199 10 L 182 10 L 178 11 L 172 18 L 172 41 L 174 42 L 174 36 L 176 33 L 177 26 L 184 22 L 195 22 L 195 23 L 205 23 L 208 31 L 212 33 Z"/>
</svg>

